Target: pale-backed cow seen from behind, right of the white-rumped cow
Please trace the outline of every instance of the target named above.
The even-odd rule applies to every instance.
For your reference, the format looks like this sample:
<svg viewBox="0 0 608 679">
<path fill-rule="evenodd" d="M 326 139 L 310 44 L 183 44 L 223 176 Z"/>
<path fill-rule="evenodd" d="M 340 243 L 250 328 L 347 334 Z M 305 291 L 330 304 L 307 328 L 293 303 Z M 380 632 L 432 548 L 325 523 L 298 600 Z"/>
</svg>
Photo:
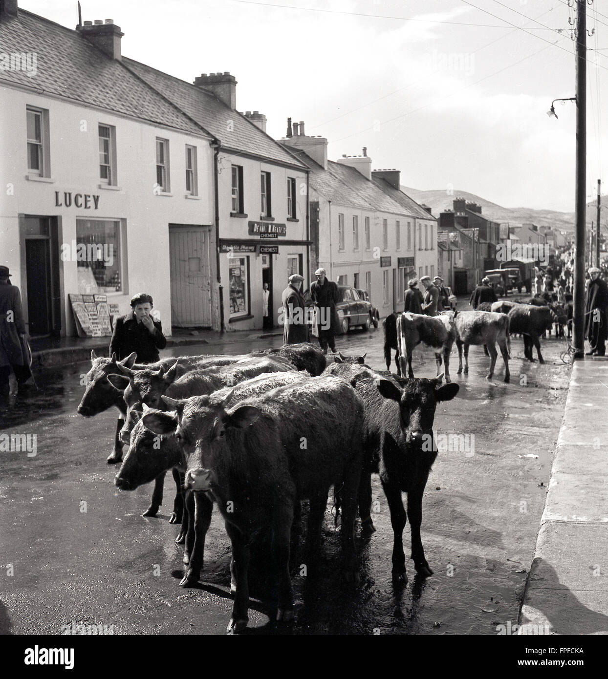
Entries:
<svg viewBox="0 0 608 679">
<path fill-rule="evenodd" d="M 456 326 L 456 346 L 458 348 L 458 374 L 463 371 L 463 345 L 465 348 L 465 375 L 469 372 L 469 346 L 484 344 L 490 354 L 490 371 L 486 375 L 492 379 L 496 357 L 495 344 L 498 342 L 505 362 L 505 382 L 509 382 L 509 355 L 511 338 L 509 336 L 509 316 L 490 311 L 462 311 L 454 319 Z"/>
</svg>

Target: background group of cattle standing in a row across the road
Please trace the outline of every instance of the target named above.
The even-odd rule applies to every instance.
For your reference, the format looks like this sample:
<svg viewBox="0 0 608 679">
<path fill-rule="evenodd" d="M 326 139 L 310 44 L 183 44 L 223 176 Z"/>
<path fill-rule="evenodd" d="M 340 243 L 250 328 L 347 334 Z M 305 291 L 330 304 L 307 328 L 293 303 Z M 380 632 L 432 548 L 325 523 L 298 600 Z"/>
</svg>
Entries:
<svg viewBox="0 0 608 679">
<path fill-rule="evenodd" d="M 463 372 L 463 349 L 465 354 L 465 374 L 469 372 L 469 346 L 483 345 L 486 355 L 490 356 L 490 369 L 486 378 L 491 380 L 497 359 L 498 344 L 505 363 L 505 382 L 509 382 L 509 356 L 511 335 L 524 338 L 524 356 L 534 361 L 533 346 L 536 347 L 539 363 L 544 363 L 541 354 L 540 338 L 551 333 L 556 326 L 556 335 L 563 336 L 563 328 L 571 320 L 571 315 L 558 304 L 551 304 L 542 297 L 532 297 L 522 302 L 505 299 L 493 303 L 480 304 L 475 311 L 442 312 L 439 316 L 423 316 L 405 312 L 390 314 L 382 325 L 385 333 L 385 360 L 387 370 L 391 368 L 391 349 L 395 350 L 397 375 L 414 377 L 412 353 L 418 344 L 426 344 L 435 350 L 437 374 L 440 373 L 442 359 L 445 364 L 446 382 L 450 382 L 450 353 L 456 343 L 458 349 L 458 374 Z"/>
</svg>

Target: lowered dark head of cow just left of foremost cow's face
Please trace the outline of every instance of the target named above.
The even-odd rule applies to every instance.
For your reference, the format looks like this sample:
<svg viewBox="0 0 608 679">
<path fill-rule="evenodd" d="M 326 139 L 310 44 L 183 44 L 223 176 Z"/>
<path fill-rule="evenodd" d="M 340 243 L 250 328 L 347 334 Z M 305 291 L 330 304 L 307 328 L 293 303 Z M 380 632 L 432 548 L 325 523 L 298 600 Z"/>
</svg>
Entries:
<svg viewBox="0 0 608 679">
<path fill-rule="evenodd" d="M 141 412 L 135 411 L 136 424 L 131 431 L 128 453 L 114 478 L 120 490 L 135 490 L 182 462 L 181 448 L 175 436 L 160 437 L 152 433 L 141 422 L 141 416 Z"/>
</svg>

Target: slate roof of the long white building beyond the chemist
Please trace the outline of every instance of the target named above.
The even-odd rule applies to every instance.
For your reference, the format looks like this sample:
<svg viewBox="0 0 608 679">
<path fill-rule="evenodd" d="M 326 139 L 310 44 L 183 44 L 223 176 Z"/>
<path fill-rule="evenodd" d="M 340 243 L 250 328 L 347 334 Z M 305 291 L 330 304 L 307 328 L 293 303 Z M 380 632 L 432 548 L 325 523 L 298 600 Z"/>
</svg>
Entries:
<svg viewBox="0 0 608 679">
<path fill-rule="evenodd" d="M 310 187 L 332 203 L 363 210 L 380 210 L 405 217 L 413 216 L 410 211 L 387 196 L 374 181 L 365 179 L 359 170 L 333 160 L 327 161 L 325 170 L 302 149 L 296 149 L 285 143 L 282 145 L 310 167 Z"/>
</svg>

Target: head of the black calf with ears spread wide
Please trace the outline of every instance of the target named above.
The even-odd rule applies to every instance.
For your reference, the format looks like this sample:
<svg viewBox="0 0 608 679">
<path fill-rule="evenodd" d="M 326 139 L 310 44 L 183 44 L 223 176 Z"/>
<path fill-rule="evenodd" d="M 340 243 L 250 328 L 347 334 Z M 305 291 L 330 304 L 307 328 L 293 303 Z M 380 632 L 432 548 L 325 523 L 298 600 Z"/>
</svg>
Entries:
<svg viewBox="0 0 608 679">
<path fill-rule="evenodd" d="M 434 380 L 426 378 L 376 380 L 380 394 L 385 399 L 391 399 L 399 404 L 401 426 L 410 445 L 422 446 L 429 436 L 432 437 L 437 403 L 451 401 L 459 391 L 459 385 L 454 382 L 442 385 L 443 377 L 438 375 Z"/>
</svg>

